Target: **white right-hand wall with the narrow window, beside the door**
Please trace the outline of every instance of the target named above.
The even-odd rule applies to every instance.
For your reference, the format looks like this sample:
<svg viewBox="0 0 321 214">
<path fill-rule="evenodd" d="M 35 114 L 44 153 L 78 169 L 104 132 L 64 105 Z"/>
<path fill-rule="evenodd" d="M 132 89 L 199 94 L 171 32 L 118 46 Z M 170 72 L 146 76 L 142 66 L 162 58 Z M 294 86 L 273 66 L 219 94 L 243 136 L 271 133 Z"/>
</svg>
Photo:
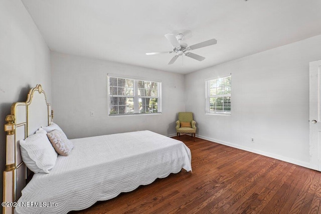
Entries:
<svg viewBox="0 0 321 214">
<path fill-rule="evenodd" d="M 186 75 L 200 137 L 308 166 L 309 62 L 321 35 Z M 205 114 L 206 78 L 232 73 L 231 116 Z M 254 143 L 250 138 L 254 138 Z"/>
</svg>

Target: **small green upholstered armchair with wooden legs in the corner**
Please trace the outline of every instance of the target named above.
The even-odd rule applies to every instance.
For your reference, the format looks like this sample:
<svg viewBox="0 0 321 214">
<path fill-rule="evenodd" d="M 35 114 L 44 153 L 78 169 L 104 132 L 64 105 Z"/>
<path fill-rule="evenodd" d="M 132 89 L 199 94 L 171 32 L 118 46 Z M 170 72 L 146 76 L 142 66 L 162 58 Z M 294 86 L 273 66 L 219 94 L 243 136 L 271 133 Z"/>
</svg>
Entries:
<svg viewBox="0 0 321 214">
<path fill-rule="evenodd" d="M 193 112 L 179 112 L 179 120 L 176 121 L 176 132 L 177 136 L 180 137 L 181 133 L 196 133 L 196 122 L 193 120 Z"/>
</svg>

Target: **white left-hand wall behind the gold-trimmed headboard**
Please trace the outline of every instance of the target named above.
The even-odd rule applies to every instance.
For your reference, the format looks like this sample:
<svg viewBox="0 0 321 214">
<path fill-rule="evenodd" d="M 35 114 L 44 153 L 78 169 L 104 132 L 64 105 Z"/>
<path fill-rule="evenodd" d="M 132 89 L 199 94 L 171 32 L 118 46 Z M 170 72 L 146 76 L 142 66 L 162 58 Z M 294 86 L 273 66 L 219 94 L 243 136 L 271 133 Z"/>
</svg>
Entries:
<svg viewBox="0 0 321 214">
<path fill-rule="evenodd" d="M 0 168 L 3 174 L 6 165 L 4 125 L 11 104 L 26 101 L 29 89 L 37 84 L 43 86 L 51 101 L 50 50 L 20 0 L 0 1 L 0 74 Z M 2 192 L 2 175 L 0 183 Z"/>
</svg>

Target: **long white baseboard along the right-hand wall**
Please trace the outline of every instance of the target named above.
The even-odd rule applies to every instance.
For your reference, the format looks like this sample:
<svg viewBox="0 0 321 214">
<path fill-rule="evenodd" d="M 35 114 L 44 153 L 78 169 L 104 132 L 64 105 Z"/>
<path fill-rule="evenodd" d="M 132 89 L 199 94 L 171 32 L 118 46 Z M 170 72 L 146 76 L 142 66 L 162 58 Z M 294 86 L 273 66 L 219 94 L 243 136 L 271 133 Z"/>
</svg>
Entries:
<svg viewBox="0 0 321 214">
<path fill-rule="evenodd" d="M 274 158 L 274 159 L 282 160 L 282 161 L 285 161 L 285 162 L 288 162 L 288 163 L 293 163 L 293 164 L 296 164 L 296 165 L 299 165 L 299 166 L 303 166 L 303 167 L 306 167 L 306 168 L 310 168 L 310 163 L 309 162 L 300 161 L 300 160 L 296 160 L 296 159 L 293 159 L 293 158 L 284 157 L 284 156 L 281 156 L 281 155 L 278 155 L 278 154 L 273 154 L 273 153 L 261 151 L 261 150 L 258 150 L 258 149 L 253 149 L 253 148 L 246 147 L 246 146 L 240 146 L 240 145 L 237 145 L 237 144 L 234 144 L 234 143 L 229 143 L 229 142 L 225 142 L 225 141 L 221 141 L 221 140 L 217 140 L 217 139 L 213 139 L 213 138 L 209 138 L 209 137 L 205 137 L 205 136 L 201 136 L 201 135 L 196 135 L 196 137 L 199 137 L 199 138 L 204 139 L 204 140 L 209 140 L 209 141 L 212 141 L 212 142 L 220 143 L 220 144 L 223 144 L 223 145 L 226 145 L 226 146 L 231 146 L 231 147 L 234 147 L 234 148 L 238 148 L 238 149 L 242 149 L 242 150 L 245 150 L 245 151 L 253 152 L 253 153 L 256 153 L 256 154 L 264 155 L 264 156 L 271 157 L 271 158 Z"/>
</svg>

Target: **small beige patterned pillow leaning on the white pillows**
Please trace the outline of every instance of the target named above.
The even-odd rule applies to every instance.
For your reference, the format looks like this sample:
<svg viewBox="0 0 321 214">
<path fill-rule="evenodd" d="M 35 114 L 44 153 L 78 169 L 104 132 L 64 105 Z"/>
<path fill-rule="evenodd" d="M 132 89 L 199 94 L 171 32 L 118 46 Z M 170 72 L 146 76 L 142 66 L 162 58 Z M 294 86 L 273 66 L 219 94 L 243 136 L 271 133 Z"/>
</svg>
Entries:
<svg viewBox="0 0 321 214">
<path fill-rule="evenodd" d="M 60 155 L 68 156 L 74 148 L 74 144 L 67 139 L 66 135 L 62 131 L 58 129 L 47 133 L 47 136 L 56 152 Z"/>
</svg>

